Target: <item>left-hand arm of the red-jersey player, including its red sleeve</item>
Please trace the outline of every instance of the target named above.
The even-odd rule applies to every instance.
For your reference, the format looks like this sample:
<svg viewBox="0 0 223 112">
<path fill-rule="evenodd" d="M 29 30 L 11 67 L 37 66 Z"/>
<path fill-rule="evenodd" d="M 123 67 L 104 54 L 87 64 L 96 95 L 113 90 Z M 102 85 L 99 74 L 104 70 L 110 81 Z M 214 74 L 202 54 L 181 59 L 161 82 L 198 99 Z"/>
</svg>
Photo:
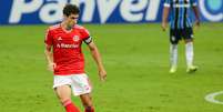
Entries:
<svg viewBox="0 0 223 112">
<path fill-rule="evenodd" d="M 45 43 L 44 55 L 45 55 L 45 59 L 48 62 L 48 70 L 53 71 L 53 69 L 55 68 L 55 64 L 53 62 L 53 54 L 51 51 L 51 49 L 52 49 L 52 35 L 50 33 L 50 30 L 47 31 L 44 43 Z"/>
</svg>

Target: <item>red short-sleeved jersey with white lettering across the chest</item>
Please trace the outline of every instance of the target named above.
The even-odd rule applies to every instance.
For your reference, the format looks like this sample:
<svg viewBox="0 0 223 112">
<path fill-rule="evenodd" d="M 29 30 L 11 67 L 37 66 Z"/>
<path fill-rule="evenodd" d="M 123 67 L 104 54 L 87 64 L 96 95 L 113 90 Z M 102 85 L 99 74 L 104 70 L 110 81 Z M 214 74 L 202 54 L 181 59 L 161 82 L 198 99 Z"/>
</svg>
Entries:
<svg viewBox="0 0 223 112">
<path fill-rule="evenodd" d="M 53 47 L 55 75 L 84 73 L 84 58 L 81 50 L 82 42 L 90 43 L 89 31 L 75 24 L 71 31 L 65 31 L 61 24 L 48 29 L 44 42 Z"/>
</svg>

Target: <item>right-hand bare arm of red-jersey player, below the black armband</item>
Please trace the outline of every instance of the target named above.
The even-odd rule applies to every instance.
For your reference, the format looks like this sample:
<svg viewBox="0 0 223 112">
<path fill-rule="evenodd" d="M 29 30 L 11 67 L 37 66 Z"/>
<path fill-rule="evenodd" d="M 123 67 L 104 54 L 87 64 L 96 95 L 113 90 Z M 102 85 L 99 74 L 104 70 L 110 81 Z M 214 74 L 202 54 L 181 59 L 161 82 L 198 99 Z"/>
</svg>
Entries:
<svg viewBox="0 0 223 112">
<path fill-rule="evenodd" d="M 98 47 L 94 44 L 94 42 L 92 40 L 88 43 L 88 47 L 89 47 L 89 49 L 91 51 L 91 55 L 93 57 L 94 61 L 97 62 L 97 65 L 98 65 L 98 69 L 99 69 L 100 80 L 105 81 L 107 71 L 105 71 L 104 65 L 102 63 L 101 54 L 99 52 Z"/>
</svg>

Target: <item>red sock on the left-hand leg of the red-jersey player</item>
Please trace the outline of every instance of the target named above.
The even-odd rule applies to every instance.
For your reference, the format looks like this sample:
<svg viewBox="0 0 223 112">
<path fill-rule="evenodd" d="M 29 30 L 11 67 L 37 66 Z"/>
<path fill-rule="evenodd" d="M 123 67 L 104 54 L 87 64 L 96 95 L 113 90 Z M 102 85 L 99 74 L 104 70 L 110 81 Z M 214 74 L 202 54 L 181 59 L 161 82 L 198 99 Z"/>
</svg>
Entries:
<svg viewBox="0 0 223 112">
<path fill-rule="evenodd" d="M 71 100 L 67 100 L 63 102 L 63 106 L 67 112 L 80 112 L 79 109 L 72 103 Z"/>
</svg>

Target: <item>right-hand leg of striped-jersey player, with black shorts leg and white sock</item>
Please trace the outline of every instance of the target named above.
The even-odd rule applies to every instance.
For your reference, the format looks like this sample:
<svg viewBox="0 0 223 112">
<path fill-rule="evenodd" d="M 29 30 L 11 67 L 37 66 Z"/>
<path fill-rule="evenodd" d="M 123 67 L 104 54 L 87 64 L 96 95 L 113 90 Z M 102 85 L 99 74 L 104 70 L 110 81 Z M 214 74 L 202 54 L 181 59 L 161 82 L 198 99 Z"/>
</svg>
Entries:
<svg viewBox="0 0 223 112">
<path fill-rule="evenodd" d="M 183 31 L 183 37 L 185 41 L 185 58 L 186 58 L 186 72 L 194 72 L 197 67 L 193 65 L 194 50 L 193 50 L 193 30 L 192 28 L 186 28 Z"/>
</svg>

